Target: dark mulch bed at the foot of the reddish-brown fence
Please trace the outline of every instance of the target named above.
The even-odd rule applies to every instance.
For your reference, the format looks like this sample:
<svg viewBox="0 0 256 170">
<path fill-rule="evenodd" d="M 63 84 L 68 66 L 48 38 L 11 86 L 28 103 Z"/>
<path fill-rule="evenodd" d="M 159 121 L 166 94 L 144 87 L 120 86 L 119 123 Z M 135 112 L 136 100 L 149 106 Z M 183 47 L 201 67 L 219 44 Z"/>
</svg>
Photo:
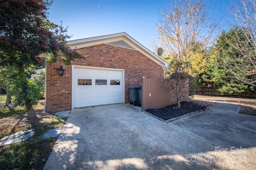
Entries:
<svg viewBox="0 0 256 170">
<path fill-rule="evenodd" d="M 180 102 L 180 109 L 177 108 L 177 104 L 173 104 L 159 109 L 146 109 L 145 111 L 156 117 L 159 117 L 159 119 L 167 121 L 169 119 L 180 117 L 194 111 L 206 109 L 206 107 L 208 106 L 198 105 L 194 102 Z"/>
</svg>

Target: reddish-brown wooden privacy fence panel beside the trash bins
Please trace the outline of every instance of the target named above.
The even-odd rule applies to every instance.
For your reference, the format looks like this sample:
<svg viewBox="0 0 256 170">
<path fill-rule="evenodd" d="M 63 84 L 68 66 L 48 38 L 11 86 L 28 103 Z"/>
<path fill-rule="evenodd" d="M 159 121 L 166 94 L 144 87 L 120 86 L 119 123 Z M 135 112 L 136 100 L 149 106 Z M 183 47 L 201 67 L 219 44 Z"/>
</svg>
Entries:
<svg viewBox="0 0 256 170">
<path fill-rule="evenodd" d="M 176 95 L 164 90 L 165 79 L 142 78 L 142 111 L 177 103 Z M 182 101 L 188 102 L 188 88 Z"/>
</svg>

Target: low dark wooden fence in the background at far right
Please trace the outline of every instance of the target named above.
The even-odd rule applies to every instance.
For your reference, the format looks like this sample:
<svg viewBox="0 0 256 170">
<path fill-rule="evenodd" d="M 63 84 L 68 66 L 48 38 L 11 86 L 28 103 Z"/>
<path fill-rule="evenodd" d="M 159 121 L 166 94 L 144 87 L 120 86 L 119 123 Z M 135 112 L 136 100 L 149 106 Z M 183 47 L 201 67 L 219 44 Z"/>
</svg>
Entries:
<svg viewBox="0 0 256 170">
<path fill-rule="evenodd" d="M 198 91 L 198 94 L 212 95 L 212 96 L 242 96 L 242 97 L 256 98 L 256 93 L 242 93 L 239 95 L 230 95 L 228 93 L 220 93 L 218 92 L 217 88 L 211 88 L 211 87 L 200 88 Z"/>
</svg>

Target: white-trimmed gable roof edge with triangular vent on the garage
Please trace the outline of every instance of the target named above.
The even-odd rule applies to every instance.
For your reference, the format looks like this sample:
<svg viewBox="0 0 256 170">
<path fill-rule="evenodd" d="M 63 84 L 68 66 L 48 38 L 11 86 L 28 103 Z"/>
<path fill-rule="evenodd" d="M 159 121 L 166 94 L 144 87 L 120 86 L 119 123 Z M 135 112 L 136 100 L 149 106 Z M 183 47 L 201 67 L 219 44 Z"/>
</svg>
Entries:
<svg viewBox="0 0 256 170">
<path fill-rule="evenodd" d="M 78 49 L 104 43 L 140 51 L 140 53 L 144 54 L 163 68 L 168 66 L 168 63 L 160 59 L 157 55 L 138 43 L 138 41 L 130 37 L 125 32 L 68 41 L 70 48 Z"/>
</svg>

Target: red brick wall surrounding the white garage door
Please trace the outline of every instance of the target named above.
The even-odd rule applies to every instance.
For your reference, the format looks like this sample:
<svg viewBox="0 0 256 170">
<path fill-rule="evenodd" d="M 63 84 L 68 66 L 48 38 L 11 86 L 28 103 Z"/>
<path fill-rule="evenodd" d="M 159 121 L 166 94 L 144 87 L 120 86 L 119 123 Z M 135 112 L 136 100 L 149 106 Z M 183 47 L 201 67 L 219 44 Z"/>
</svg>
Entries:
<svg viewBox="0 0 256 170">
<path fill-rule="evenodd" d="M 104 68 L 124 69 L 125 73 L 125 102 L 130 102 L 130 86 L 141 85 L 141 79 L 163 78 L 162 66 L 155 63 L 142 53 L 132 49 L 113 45 L 100 44 L 78 49 L 88 55 L 85 60 L 72 61 L 69 66 L 61 63 L 48 63 L 46 66 L 46 111 L 57 112 L 72 109 L 72 64 L 82 66 L 96 66 Z M 60 55 L 60 57 L 63 57 Z M 64 68 L 64 75 L 58 75 L 60 65 Z"/>
</svg>

